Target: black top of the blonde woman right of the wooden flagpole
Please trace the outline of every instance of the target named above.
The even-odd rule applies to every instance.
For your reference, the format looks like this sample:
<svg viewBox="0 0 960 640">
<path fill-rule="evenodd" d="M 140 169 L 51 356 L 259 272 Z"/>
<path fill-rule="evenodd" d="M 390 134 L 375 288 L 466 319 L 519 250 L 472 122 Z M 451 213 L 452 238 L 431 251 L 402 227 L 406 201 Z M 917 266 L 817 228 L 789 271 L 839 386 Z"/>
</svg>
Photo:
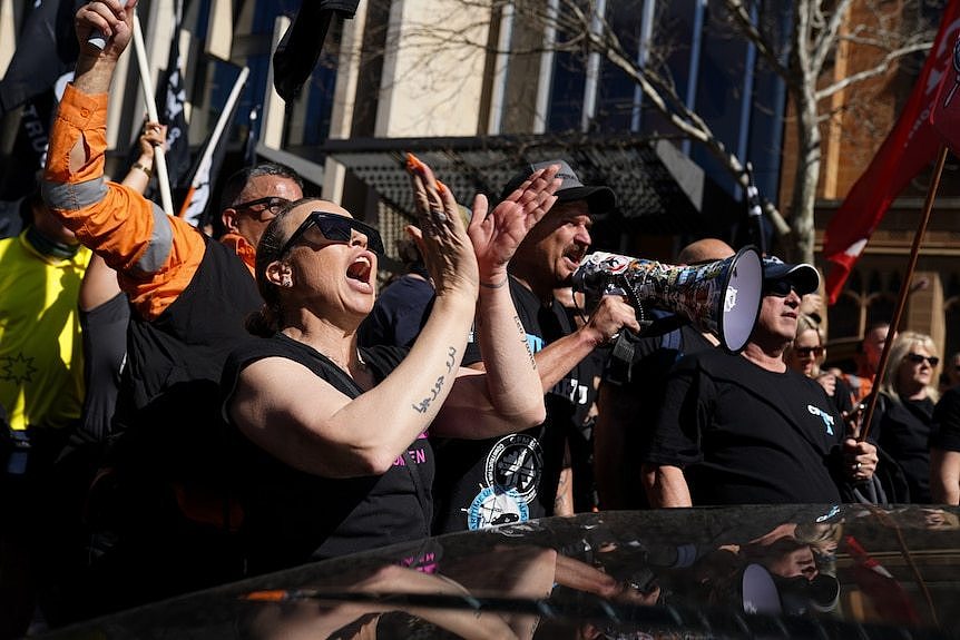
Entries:
<svg viewBox="0 0 960 640">
<path fill-rule="evenodd" d="M 907 479 L 910 502 L 929 504 L 930 434 L 933 401 L 897 401 L 881 393 L 879 416 L 874 416 L 870 440 L 885 451 L 900 466 Z"/>
</svg>

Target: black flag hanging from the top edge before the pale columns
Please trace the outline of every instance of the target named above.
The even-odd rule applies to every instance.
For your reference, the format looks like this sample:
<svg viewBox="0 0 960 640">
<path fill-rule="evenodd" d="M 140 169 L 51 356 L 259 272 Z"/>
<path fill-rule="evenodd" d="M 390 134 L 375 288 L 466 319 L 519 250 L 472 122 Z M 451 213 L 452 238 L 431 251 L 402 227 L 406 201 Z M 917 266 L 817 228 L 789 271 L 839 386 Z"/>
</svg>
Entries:
<svg viewBox="0 0 960 640">
<path fill-rule="evenodd" d="M 359 3 L 360 0 L 312 0 L 301 4 L 273 55 L 273 86 L 281 98 L 287 102 L 296 98 L 316 67 L 331 19 L 334 14 L 353 18 Z"/>
</svg>

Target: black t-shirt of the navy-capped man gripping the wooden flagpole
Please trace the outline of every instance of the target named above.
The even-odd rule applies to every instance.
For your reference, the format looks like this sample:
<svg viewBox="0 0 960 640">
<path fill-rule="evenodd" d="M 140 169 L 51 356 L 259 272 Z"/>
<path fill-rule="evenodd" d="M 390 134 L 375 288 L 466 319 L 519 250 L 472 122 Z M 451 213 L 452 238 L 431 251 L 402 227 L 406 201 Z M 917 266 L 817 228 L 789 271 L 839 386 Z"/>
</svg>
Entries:
<svg viewBox="0 0 960 640">
<path fill-rule="evenodd" d="M 843 435 L 815 381 L 711 349 L 674 368 L 644 460 L 684 469 L 694 504 L 833 503 Z"/>
</svg>

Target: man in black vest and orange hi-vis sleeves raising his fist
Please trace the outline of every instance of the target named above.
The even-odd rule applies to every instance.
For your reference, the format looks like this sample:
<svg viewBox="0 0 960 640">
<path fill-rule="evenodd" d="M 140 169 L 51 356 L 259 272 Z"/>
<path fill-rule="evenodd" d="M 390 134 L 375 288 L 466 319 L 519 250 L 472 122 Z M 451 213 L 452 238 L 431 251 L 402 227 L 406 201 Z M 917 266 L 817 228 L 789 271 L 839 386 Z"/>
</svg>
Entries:
<svg viewBox="0 0 960 640">
<path fill-rule="evenodd" d="M 226 356 L 248 338 L 245 317 L 263 304 L 252 277 L 259 236 L 280 207 L 302 197 L 287 169 L 244 171 L 224 189 L 227 234 L 214 242 L 105 179 L 108 92 L 133 32 L 134 9 L 125 4 L 100 0 L 77 11 L 80 42 L 94 30 L 108 40 L 102 50 L 81 47 L 50 132 L 42 186 L 53 214 L 117 270 L 131 307 L 109 460 L 115 474 L 105 484 L 117 486 L 108 505 L 116 511 L 115 549 L 145 568 L 145 578 L 112 585 L 119 599 L 108 607 L 169 592 L 165 577 L 198 588 L 229 574 L 221 534 L 232 526 L 231 509 L 215 491 L 224 477 L 219 377 Z"/>
</svg>

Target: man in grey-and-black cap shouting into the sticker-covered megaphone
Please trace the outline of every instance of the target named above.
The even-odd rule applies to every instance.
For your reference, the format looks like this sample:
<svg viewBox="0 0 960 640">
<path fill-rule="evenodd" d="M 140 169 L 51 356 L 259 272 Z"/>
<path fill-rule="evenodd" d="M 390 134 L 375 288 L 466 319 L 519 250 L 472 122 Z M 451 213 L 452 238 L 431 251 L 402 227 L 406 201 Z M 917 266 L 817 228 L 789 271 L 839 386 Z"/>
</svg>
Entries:
<svg viewBox="0 0 960 640">
<path fill-rule="evenodd" d="M 536 357 L 546 394 L 547 421 L 532 430 L 484 441 L 435 442 L 434 482 L 438 533 L 481 529 L 551 515 L 564 461 L 566 439 L 579 433 L 594 402 L 596 365 L 585 358 L 607 344 L 623 327 L 639 331 L 633 307 L 617 296 L 604 296 L 587 323 L 576 328 L 554 289 L 570 278 L 590 246 L 592 217 L 616 205 L 608 187 L 585 186 L 564 160 L 528 166 L 511 179 L 501 199 L 533 171 L 560 165 L 564 181 L 557 201 L 530 229 L 510 260 L 510 275 L 484 287 L 510 287 L 527 342 Z M 482 349 L 496 345 L 482 345 Z M 463 364 L 482 368 L 481 345 L 467 345 Z"/>
</svg>

